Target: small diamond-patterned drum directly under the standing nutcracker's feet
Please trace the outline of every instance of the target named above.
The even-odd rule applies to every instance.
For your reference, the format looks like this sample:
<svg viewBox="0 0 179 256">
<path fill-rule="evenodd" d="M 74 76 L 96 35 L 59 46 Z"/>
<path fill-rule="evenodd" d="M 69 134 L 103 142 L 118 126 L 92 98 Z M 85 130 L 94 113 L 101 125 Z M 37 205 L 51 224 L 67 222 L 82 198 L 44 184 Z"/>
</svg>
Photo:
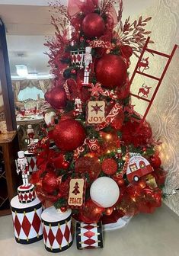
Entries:
<svg viewBox="0 0 179 256">
<path fill-rule="evenodd" d="M 20 203 L 30 203 L 36 199 L 34 185 L 30 184 L 28 187 L 18 187 L 18 200 Z"/>
</svg>

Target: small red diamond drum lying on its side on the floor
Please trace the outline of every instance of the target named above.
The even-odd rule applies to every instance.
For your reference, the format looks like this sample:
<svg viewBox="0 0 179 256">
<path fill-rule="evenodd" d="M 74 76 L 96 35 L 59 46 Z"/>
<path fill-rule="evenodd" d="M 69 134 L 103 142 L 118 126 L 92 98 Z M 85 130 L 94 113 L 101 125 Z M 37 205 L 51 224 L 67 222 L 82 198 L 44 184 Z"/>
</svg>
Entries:
<svg viewBox="0 0 179 256">
<path fill-rule="evenodd" d="M 76 222 L 76 246 L 78 249 L 103 248 L 102 223 Z"/>
</svg>

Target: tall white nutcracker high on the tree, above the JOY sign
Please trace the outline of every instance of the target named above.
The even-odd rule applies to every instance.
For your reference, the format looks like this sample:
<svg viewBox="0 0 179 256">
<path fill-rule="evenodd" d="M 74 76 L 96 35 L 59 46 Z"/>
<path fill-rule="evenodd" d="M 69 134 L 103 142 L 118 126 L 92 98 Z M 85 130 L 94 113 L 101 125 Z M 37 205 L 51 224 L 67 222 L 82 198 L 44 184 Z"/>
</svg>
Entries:
<svg viewBox="0 0 179 256">
<path fill-rule="evenodd" d="M 83 64 L 85 67 L 83 84 L 85 84 L 85 85 L 88 85 L 88 83 L 89 83 L 89 74 L 90 74 L 90 69 L 91 69 L 91 63 L 92 63 L 91 47 L 88 46 L 85 48 L 85 54 L 84 54 L 84 59 L 83 59 Z M 82 65 L 81 65 L 81 68 L 82 68 Z"/>
</svg>

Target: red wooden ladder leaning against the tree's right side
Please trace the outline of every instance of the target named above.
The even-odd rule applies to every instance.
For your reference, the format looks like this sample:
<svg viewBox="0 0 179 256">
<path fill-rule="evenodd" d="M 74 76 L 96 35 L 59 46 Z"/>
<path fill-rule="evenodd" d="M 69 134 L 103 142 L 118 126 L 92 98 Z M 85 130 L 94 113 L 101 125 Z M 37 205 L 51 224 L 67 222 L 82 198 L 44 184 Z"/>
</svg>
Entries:
<svg viewBox="0 0 179 256">
<path fill-rule="evenodd" d="M 142 120 L 140 121 L 139 127 L 142 126 L 142 123 L 144 122 L 145 117 L 146 117 L 147 114 L 149 113 L 149 109 L 150 109 L 150 107 L 152 106 L 152 103 L 153 103 L 153 101 L 154 101 L 154 99 L 155 99 L 155 96 L 156 96 L 156 94 L 157 94 L 157 92 L 158 92 L 158 88 L 159 88 L 160 85 L 161 85 L 161 82 L 162 82 L 162 80 L 163 80 L 163 78 L 164 78 L 164 76 L 165 76 L 165 73 L 167 72 L 168 66 L 170 65 L 171 59 L 172 59 L 173 56 L 174 56 L 174 52 L 175 52 L 175 50 L 177 49 L 177 44 L 175 44 L 175 45 L 174 45 L 174 49 L 173 49 L 172 52 L 171 52 L 171 55 L 168 55 L 168 54 L 165 54 L 165 53 L 160 53 L 160 52 L 158 52 L 158 51 L 155 51 L 155 50 L 152 50 L 152 49 L 149 49 L 149 48 L 148 48 L 149 40 L 150 40 L 150 37 L 148 37 L 147 40 L 145 41 L 145 45 L 144 45 L 144 47 L 143 47 L 143 49 L 142 49 L 142 53 L 141 53 L 141 55 L 140 55 L 140 57 L 139 57 L 139 60 L 138 60 L 138 62 L 137 62 L 137 64 L 136 64 L 136 68 L 134 69 L 133 75 L 132 75 L 132 77 L 131 77 L 131 79 L 130 79 L 130 85 L 132 85 L 133 79 L 135 78 L 135 75 L 136 75 L 136 74 L 144 75 L 144 76 L 146 76 L 146 77 L 148 77 L 148 78 L 152 78 L 152 79 L 158 81 L 158 84 L 157 84 L 157 86 L 156 86 L 156 88 L 155 88 L 155 91 L 154 91 L 153 94 L 152 94 L 152 98 L 151 98 L 150 100 L 147 99 L 147 98 L 140 97 L 138 94 L 130 93 L 130 95 L 132 95 L 133 97 L 139 98 L 139 99 L 141 99 L 142 101 L 148 101 L 148 102 L 149 102 L 149 105 L 148 105 L 148 107 L 147 107 L 146 110 L 145 110 L 145 114 L 143 115 Z M 156 54 L 156 55 L 159 55 L 159 56 L 163 56 L 163 57 L 165 57 L 165 58 L 168 58 L 168 62 L 166 63 L 165 68 L 164 68 L 164 70 L 163 70 L 163 72 L 162 72 L 160 78 L 155 77 L 155 76 L 153 76 L 153 75 L 146 74 L 146 73 L 144 73 L 144 72 L 140 72 L 140 71 L 138 70 L 138 69 L 139 69 L 139 63 L 142 62 L 142 58 L 143 58 L 145 52 L 154 53 L 154 54 Z"/>
</svg>

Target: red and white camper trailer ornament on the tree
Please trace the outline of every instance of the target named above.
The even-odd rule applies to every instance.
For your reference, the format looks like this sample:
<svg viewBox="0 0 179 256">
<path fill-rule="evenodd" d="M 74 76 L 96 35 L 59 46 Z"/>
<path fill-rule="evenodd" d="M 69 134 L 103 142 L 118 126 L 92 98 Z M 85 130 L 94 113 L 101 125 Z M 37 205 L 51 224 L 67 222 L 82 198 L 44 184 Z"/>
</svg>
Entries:
<svg viewBox="0 0 179 256">
<path fill-rule="evenodd" d="M 129 158 L 126 170 L 126 177 L 129 182 L 139 181 L 139 178 L 153 171 L 149 161 L 142 155 L 133 155 Z"/>
</svg>

